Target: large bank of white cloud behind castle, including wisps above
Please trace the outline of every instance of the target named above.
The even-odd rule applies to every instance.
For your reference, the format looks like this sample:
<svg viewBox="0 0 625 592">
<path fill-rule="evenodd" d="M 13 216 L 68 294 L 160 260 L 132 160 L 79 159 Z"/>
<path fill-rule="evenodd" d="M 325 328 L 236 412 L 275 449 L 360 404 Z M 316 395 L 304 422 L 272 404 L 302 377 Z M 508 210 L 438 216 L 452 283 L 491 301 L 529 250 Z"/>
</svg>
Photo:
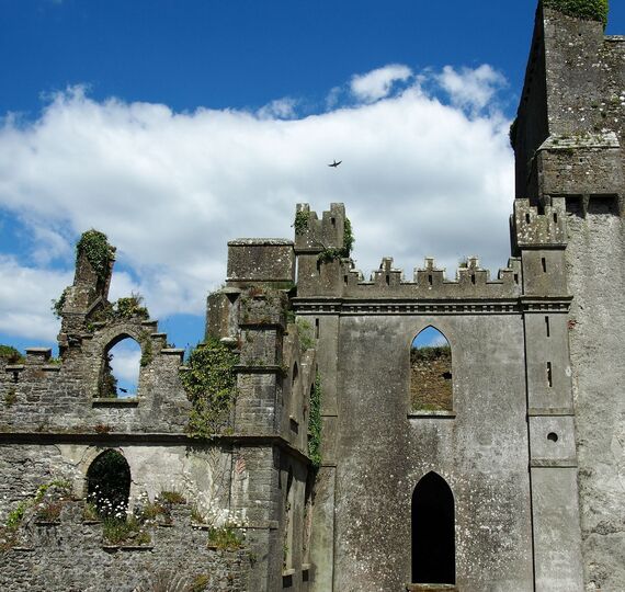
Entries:
<svg viewBox="0 0 625 592">
<path fill-rule="evenodd" d="M 452 276 L 466 254 L 504 264 L 509 122 L 496 110 L 475 112 L 495 96 L 500 75 L 492 72 L 481 66 L 417 77 L 440 76 L 448 99 L 417 78 L 390 95 L 394 81 L 412 75 L 389 66 L 361 77 L 364 102 L 306 117 L 285 100 L 261 113 L 174 113 L 98 102 L 75 88 L 55 95 L 34 122 L 5 118 L 0 207 L 31 230 L 32 266 L 2 259 L 0 330 L 56 333 L 44 316 L 71 272 L 50 271 L 49 261 L 70 270 L 73 241 L 92 227 L 117 247 L 122 272 L 112 298 L 138 291 L 157 318 L 203 314 L 206 293 L 224 280 L 227 241 L 291 237 L 298 202 L 319 213 L 345 203 L 365 272 L 383 255 L 394 255 L 408 277 L 425 255 Z M 458 78 L 473 89 L 468 103 L 458 99 Z M 343 160 L 338 170 L 327 167 L 334 158 Z M 9 321 L 10 311 L 19 319 Z"/>
</svg>

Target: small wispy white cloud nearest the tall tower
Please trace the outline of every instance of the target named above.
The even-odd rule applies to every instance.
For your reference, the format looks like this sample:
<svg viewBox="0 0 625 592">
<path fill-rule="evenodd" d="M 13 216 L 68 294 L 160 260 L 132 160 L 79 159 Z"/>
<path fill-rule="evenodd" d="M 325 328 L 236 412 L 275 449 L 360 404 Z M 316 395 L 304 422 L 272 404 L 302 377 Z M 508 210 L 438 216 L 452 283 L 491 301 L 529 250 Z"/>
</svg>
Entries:
<svg viewBox="0 0 625 592">
<path fill-rule="evenodd" d="M 445 66 L 436 77 L 441 87 L 450 93 L 452 104 L 468 109 L 474 114 L 486 107 L 499 89 L 507 84 L 505 78 L 488 64 L 475 70 L 461 68 L 456 71 Z"/>
</svg>

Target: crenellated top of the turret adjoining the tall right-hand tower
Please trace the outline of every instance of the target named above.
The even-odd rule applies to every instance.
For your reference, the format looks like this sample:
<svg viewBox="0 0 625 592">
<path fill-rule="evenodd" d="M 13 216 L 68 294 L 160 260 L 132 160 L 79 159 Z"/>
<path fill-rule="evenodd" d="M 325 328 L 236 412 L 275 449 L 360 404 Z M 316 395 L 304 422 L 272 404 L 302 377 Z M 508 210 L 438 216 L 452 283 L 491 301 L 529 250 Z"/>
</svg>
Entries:
<svg viewBox="0 0 625 592">
<path fill-rule="evenodd" d="M 567 244 L 566 201 L 553 197 L 544 210 L 530 205 L 530 200 L 515 200 L 510 217 L 512 251 L 521 249 L 564 249 Z"/>
</svg>

